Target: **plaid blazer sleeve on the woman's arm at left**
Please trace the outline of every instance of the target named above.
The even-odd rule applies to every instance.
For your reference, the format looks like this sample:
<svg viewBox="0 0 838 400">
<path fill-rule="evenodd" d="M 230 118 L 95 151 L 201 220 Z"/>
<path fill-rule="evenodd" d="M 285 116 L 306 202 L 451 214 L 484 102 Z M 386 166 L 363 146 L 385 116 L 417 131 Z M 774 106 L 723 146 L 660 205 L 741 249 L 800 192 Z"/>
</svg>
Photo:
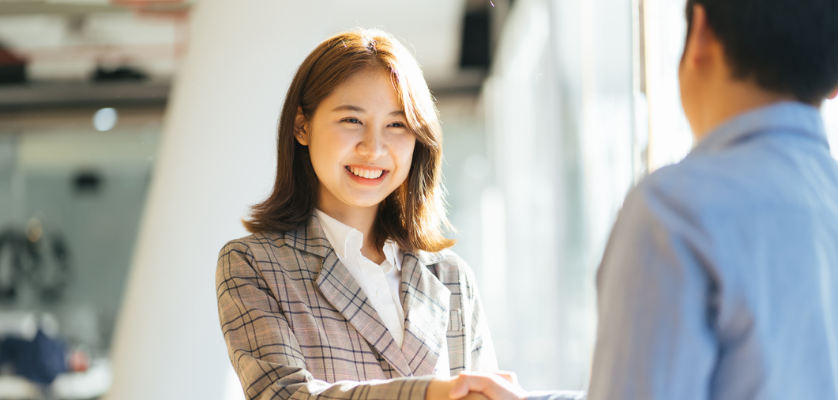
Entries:
<svg viewBox="0 0 838 400">
<path fill-rule="evenodd" d="M 221 330 L 247 399 L 424 399 L 432 377 L 335 383 L 314 379 L 245 243 L 233 241 L 221 250 L 216 290 Z"/>
</svg>

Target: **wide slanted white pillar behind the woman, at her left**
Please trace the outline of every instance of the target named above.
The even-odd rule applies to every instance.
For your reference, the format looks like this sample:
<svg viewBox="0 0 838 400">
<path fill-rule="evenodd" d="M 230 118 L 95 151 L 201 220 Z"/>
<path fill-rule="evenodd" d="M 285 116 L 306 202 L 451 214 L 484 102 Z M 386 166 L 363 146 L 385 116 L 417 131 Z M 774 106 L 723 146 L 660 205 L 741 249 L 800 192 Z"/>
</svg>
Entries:
<svg viewBox="0 0 838 400">
<path fill-rule="evenodd" d="M 225 242 L 247 234 L 240 223 L 247 206 L 270 191 L 285 91 L 329 33 L 306 3 L 198 2 L 118 317 L 106 399 L 229 393 L 216 260 Z"/>
</svg>

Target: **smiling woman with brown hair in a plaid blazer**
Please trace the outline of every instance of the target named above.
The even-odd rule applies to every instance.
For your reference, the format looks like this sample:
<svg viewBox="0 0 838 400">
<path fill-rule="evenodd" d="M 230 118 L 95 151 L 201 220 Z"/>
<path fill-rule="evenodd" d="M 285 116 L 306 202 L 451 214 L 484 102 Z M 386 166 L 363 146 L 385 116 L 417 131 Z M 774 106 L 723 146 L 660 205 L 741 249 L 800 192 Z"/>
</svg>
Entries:
<svg viewBox="0 0 838 400">
<path fill-rule="evenodd" d="M 422 399 L 496 369 L 472 272 L 440 233 L 441 151 L 427 84 L 392 36 L 337 35 L 305 59 L 273 193 L 218 260 L 248 398 Z"/>
</svg>

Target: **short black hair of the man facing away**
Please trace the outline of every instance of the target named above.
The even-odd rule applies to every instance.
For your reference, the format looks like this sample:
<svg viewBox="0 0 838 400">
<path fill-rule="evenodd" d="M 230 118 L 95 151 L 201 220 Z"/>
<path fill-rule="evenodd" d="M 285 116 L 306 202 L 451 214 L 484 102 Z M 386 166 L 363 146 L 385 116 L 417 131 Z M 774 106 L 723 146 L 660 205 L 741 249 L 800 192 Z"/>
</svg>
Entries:
<svg viewBox="0 0 838 400">
<path fill-rule="evenodd" d="M 838 0 L 687 0 L 704 6 L 737 79 L 819 105 L 838 86 Z"/>
</svg>

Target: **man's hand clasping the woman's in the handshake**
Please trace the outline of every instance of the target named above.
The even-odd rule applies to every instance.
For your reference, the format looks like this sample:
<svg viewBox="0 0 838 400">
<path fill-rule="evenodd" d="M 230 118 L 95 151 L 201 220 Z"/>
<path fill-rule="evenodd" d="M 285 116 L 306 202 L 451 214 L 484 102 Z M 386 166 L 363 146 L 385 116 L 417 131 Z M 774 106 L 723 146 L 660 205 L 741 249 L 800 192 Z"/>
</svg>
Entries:
<svg viewBox="0 0 838 400">
<path fill-rule="evenodd" d="M 480 393 L 489 400 L 525 400 L 527 392 L 518 385 L 514 373 L 498 374 L 481 372 L 461 372 L 453 381 L 450 391 L 451 400 L 467 398 Z"/>
</svg>

